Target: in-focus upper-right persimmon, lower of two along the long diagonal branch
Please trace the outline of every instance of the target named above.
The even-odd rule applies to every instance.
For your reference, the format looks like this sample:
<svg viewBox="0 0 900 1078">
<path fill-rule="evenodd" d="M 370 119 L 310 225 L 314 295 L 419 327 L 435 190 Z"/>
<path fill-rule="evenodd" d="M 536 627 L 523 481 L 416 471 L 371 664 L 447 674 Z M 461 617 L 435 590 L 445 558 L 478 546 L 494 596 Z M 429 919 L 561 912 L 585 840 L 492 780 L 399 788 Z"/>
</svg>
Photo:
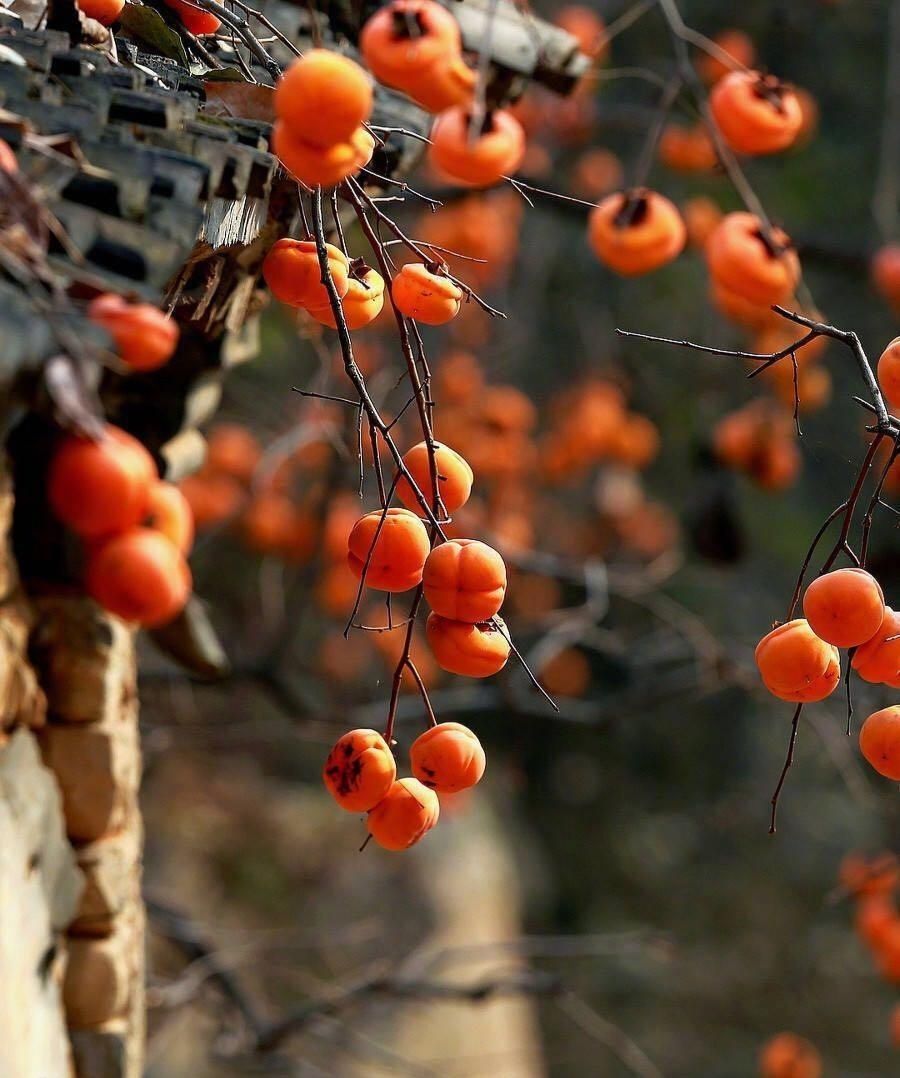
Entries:
<svg viewBox="0 0 900 1078">
<path fill-rule="evenodd" d="M 800 260 L 793 250 L 771 254 L 760 229 L 760 220 L 752 213 L 726 213 L 707 241 L 706 261 L 715 286 L 750 304 L 769 307 L 793 294 L 800 280 Z M 779 247 L 790 244 L 780 229 L 773 229 L 772 236 Z"/>
</svg>

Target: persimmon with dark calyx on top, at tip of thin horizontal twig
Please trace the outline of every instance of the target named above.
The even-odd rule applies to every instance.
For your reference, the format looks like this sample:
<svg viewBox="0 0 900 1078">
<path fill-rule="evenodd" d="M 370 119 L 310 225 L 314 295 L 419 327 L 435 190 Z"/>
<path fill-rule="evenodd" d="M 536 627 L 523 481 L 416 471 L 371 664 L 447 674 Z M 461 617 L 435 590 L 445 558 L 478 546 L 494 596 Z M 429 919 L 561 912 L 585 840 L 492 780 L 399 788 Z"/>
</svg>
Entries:
<svg viewBox="0 0 900 1078">
<path fill-rule="evenodd" d="M 587 238 L 605 265 L 625 277 L 650 273 L 681 253 L 687 233 L 675 205 L 655 191 L 622 191 L 598 203 Z"/>
</svg>

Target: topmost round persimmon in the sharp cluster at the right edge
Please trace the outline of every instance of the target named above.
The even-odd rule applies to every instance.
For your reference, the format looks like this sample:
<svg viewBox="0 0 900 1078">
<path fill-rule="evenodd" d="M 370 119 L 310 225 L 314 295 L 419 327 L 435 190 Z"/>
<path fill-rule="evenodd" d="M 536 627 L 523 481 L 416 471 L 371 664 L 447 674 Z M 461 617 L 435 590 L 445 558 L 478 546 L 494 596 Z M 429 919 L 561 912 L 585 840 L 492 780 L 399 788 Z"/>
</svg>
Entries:
<svg viewBox="0 0 900 1078">
<path fill-rule="evenodd" d="M 803 613 L 820 639 L 839 648 L 855 648 L 881 628 L 884 593 L 866 569 L 834 569 L 806 589 Z"/>
</svg>

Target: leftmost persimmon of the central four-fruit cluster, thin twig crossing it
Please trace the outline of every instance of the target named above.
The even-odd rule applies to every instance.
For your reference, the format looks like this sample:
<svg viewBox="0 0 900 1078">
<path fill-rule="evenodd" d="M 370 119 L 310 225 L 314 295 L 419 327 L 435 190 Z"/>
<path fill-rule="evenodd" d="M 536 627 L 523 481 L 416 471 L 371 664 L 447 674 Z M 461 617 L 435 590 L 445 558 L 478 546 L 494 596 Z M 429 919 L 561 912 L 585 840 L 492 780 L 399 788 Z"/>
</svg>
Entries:
<svg viewBox="0 0 900 1078">
<path fill-rule="evenodd" d="M 347 564 L 358 578 L 362 578 L 365 570 L 365 583 L 370 588 L 406 592 L 420 582 L 431 548 L 425 525 L 415 513 L 407 509 L 389 509 L 385 514 L 376 510 L 361 516 L 350 531 L 347 549 Z"/>
</svg>

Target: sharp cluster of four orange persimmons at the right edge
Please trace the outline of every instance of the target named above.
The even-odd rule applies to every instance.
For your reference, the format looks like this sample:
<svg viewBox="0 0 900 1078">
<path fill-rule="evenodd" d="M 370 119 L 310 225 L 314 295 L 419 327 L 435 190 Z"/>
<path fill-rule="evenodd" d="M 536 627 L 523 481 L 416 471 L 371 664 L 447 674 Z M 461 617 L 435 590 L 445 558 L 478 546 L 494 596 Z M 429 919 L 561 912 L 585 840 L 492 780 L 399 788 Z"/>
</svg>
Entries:
<svg viewBox="0 0 900 1078">
<path fill-rule="evenodd" d="M 900 614 L 885 606 L 875 578 L 858 567 L 817 577 L 803 596 L 803 618 L 776 625 L 757 646 L 765 688 L 779 700 L 816 703 L 841 680 L 840 648 L 864 681 L 900 688 Z M 900 706 L 874 711 L 859 731 L 872 768 L 900 782 Z"/>
</svg>

